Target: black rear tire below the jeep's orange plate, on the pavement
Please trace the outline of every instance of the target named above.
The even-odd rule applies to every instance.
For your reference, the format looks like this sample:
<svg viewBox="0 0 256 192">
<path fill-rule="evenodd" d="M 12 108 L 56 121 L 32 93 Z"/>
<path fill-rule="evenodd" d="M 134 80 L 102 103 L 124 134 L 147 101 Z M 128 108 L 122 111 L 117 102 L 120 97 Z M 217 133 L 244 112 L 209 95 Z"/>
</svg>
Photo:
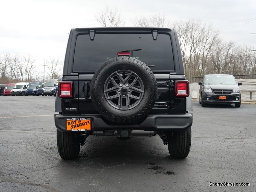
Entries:
<svg viewBox="0 0 256 192">
<path fill-rule="evenodd" d="M 75 159 L 80 152 L 80 140 L 75 132 L 57 130 L 57 146 L 62 159 Z"/>
</svg>

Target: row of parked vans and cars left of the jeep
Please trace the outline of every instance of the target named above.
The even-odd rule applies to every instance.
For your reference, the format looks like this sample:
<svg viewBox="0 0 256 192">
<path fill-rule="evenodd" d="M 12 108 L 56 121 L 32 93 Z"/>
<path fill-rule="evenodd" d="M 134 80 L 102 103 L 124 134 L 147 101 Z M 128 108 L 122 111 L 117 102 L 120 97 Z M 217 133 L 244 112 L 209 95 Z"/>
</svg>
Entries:
<svg viewBox="0 0 256 192">
<path fill-rule="evenodd" d="M 40 82 L 20 82 L 16 84 L 0 84 L 0 95 L 49 95 L 56 96 L 59 79 L 47 79 Z"/>
</svg>

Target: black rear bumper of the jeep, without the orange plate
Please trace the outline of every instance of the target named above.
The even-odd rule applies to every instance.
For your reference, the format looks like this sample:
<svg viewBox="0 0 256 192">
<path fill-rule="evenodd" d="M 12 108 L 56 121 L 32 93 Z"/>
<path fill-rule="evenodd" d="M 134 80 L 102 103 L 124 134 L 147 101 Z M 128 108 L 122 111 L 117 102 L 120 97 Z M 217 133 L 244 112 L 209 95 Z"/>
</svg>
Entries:
<svg viewBox="0 0 256 192">
<path fill-rule="evenodd" d="M 91 118 L 91 131 L 104 130 L 144 130 L 144 131 L 183 131 L 192 125 L 192 114 L 148 114 L 138 125 L 109 125 L 98 114 L 93 115 L 61 115 L 55 114 L 54 122 L 58 130 L 67 131 L 67 118 Z"/>
</svg>

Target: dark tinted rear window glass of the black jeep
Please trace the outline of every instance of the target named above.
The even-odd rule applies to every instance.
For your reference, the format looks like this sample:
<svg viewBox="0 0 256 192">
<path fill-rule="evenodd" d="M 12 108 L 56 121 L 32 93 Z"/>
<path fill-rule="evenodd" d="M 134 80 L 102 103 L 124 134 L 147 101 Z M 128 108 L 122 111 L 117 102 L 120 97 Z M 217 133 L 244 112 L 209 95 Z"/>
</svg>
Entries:
<svg viewBox="0 0 256 192">
<path fill-rule="evenodd" d="M 131 51 L 131 50 L 139 51 Z M 79 35 L 76 39 L 73 72 L 96 71 L 106 60 L 117 57 L 117 52 L 129 51 L 133 57 L 143 61 L 152 71 L 174 71 L 171 39 L 158 34 L 95 34 Z"/>
</svg>

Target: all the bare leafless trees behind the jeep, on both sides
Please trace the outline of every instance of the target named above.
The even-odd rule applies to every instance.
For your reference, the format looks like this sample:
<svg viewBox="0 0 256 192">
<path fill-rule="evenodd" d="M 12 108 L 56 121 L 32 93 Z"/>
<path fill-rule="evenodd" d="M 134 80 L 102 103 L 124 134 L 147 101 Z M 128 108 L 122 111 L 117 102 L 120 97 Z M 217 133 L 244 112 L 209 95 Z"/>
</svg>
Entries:
<svg viewBox="0 0 256 192">
<path fill-rule="evenodd" d="M 101 27 L 124 27 L 125 17 L 114 8 L 105 7 L 95 14 Z M 133 18 L 135 27 L 174 27 L 179 36 L 186 77 L 201 77 L 204 74 L 256 74 L 256 47 L 225 42 L 220 31 L 211 24 L 198 20 L 174 21 L 165 15 Z M 0 57 L 0 82 L 40 81 L 42 74 L 36 72 L 35 59 L 29 54 Z M 60 76 L 63 63 L 51 58 L 44 61 L 46 78 Z M 43 67 L 43 66 L 42 66 Z M 252 78 L 243 76 L 242 78 Z M 197 79 L 198 80 L 198 79 Z M 191 79 L 190 81 L 196 81 Z"/>
</svg>

